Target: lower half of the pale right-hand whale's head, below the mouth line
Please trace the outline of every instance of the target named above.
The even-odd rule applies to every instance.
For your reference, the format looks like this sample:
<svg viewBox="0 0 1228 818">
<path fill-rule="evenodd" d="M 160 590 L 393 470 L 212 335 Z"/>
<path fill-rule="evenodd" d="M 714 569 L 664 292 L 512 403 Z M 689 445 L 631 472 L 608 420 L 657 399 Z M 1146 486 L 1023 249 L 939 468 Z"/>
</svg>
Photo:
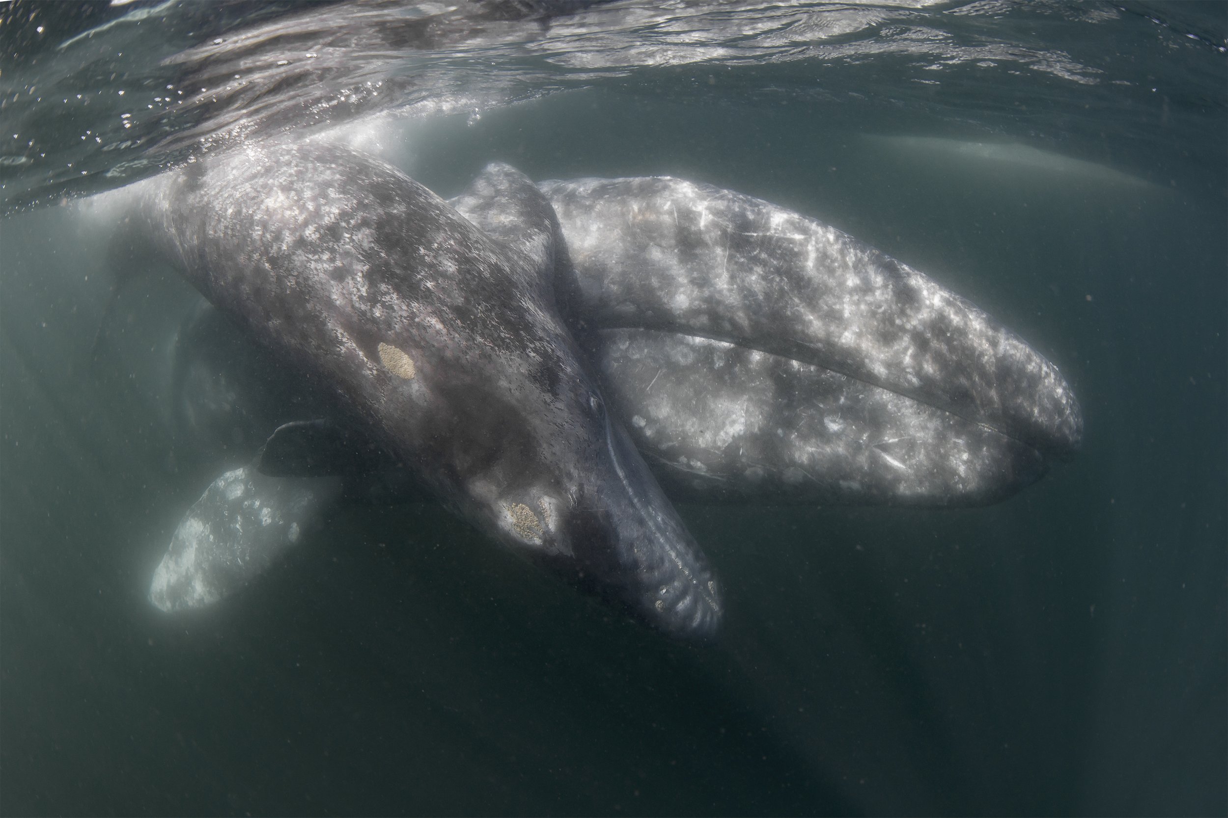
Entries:
<svg viewBox="0 0 1228 818">
<path fill-rule="evenodd" d="M 1045 470 L 1013 438 L 830 369 L 675 332 L 594 337 L 604 392 L 675 500 L 976 505 Z"/>
</svg>

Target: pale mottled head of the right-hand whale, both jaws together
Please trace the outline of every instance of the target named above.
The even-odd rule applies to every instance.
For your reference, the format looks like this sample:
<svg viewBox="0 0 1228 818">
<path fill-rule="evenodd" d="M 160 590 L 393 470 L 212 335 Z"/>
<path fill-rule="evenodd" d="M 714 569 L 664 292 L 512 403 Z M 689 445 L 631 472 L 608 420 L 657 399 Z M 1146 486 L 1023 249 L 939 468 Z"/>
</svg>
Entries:
<svg viewBox="0 0 1228 818">
<path fill-rule="evenodd" d="M 682 179 L 542 189 L 565 313 L 672 493 L 981 504 L 1079 446 L 1056 367 L 840 231 Z"/>
</svg>

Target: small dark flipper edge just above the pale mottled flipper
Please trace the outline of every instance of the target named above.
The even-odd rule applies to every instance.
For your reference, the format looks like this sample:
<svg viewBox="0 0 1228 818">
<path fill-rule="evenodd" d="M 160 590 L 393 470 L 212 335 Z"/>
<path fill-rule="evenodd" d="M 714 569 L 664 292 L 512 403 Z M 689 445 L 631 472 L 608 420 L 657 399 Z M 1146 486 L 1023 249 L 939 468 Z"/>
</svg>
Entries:
<svg viewBox="0 0 1228 818">
<path fill-rule="evenodd" d="M 332 421 L 293 421 L 273 433 L 254 466 L 270 477 L 373 473 L 395 464 L 362 434 Z"/>
</svg>

